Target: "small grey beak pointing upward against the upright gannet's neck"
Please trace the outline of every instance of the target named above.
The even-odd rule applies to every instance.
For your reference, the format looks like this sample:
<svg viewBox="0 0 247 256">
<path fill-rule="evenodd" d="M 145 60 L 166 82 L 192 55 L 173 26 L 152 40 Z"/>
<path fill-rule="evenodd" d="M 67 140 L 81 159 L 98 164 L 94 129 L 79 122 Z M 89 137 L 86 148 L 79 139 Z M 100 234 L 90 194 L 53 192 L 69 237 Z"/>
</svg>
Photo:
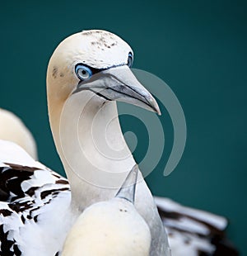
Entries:
<svg viewBox="0 0 247 256">
<path fill-rule="evenodd" d="M 138 170 L 138 166 L 135 164 L 128 173 L 127 178 L 123 182 L 123 185 L 120 187 L 119 192 L 117 192 L 115 197 L 123 198 L 134 204 Z"/>
</svg>

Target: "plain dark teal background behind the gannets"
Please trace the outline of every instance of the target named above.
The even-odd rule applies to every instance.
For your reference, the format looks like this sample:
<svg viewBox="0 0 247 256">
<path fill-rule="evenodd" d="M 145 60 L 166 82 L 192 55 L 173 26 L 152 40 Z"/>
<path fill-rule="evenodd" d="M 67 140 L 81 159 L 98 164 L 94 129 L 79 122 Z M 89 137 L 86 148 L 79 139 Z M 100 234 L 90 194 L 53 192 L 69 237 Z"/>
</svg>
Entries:
<svg viewBox="0 0 247 256">
<path fill-rule="evenodd" d="M 135 52 L 134 68 L 156 74 L 173 89 L 188 126 L 183 158 L 165 178 L 173 130 L 169 116 L 161 117 L 170 139 L 147 178 L 151 191 L 227 216 L 229 236 L 246 255 L 246 13 L 246 1 L 227 0 L 2 2 L 1 107 L 26 122 L 40 161 L 63 173 L 47 116 L 49 57 L 59 41 L 82 29 L 123 37 Z"/>
</svg>

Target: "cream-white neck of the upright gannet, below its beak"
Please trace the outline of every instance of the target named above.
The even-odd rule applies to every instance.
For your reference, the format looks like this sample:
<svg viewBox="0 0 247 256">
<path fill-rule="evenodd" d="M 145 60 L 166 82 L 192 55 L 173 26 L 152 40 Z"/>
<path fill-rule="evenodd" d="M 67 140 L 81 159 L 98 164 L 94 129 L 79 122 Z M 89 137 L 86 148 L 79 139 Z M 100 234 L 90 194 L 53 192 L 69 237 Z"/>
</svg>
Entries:
<svg viewBox="0 0 247 256">
<path fill-rule="evenodd" d="M 105 102 L 90 91 L 76 93 L 63 104 L 49 104 L 49 120 L 72 188 L 72 205 L 81 211 L 107 199 L 105 193 L 114 197 L 135 164 L 116 102 Z"/>
</svg>

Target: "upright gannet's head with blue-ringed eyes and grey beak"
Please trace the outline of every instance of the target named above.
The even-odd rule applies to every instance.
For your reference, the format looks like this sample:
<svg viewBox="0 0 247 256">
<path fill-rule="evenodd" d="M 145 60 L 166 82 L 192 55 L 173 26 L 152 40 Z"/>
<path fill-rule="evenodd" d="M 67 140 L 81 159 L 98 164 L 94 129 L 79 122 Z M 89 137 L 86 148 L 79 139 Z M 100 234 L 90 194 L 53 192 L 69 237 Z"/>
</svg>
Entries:
<svg viewBox="0 0 247 256">
<path fill-rule="evenodd" d="M 54 51 L 48 67 L 48 97 L 64 102 L 90 91 L 103 101 L 122 101 L 160 113 L 151 93 L 130 67 L 133 50 L 119 36 L 91 30 L 69 36 Z"/>
</svg>

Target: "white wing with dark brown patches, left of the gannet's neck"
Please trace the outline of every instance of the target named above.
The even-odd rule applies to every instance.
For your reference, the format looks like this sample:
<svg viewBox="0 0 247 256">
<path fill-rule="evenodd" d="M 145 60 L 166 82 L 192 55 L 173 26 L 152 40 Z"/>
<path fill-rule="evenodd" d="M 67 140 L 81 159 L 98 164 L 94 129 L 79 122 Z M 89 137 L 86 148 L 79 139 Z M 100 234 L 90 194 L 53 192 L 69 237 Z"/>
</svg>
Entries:
<svg viewBox="0 0 247 256">
<path fill-rule="evenodd" d="M 67 233 L 70 197 L 66 178 L 0 140 L 0 255 L 54 256 Z"/>
</svg>

